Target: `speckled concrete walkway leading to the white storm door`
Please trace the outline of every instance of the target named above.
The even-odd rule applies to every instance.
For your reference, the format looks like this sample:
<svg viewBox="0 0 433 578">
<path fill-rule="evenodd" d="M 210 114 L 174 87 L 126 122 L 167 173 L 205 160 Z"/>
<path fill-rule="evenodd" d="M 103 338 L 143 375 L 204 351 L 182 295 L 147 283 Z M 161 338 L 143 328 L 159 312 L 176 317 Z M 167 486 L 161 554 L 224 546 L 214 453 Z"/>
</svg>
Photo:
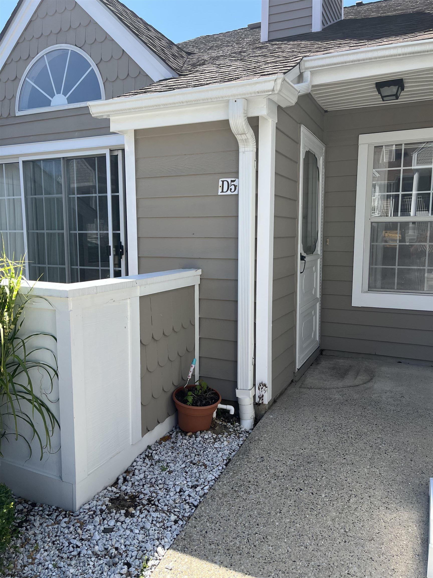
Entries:
<svg viewBox="0 0 433 578">
<path fill-rule="evenodd" d="M 152 578 L 425 578 L 433 368 L 319 357 Z"/>
</svg>

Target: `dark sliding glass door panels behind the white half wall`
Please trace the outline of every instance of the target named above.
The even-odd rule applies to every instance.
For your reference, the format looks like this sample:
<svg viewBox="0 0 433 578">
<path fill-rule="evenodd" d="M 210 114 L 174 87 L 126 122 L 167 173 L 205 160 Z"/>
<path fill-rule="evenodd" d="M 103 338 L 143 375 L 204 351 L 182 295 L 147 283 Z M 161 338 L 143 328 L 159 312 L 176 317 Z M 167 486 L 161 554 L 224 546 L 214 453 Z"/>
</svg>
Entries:
<svg viewBox="0 0 433 578">
<path fill-rule="evenodd" d="M 23 161 L 29 279 L 76 283 L 124 274 L 117 157 Z"/>
</svg>

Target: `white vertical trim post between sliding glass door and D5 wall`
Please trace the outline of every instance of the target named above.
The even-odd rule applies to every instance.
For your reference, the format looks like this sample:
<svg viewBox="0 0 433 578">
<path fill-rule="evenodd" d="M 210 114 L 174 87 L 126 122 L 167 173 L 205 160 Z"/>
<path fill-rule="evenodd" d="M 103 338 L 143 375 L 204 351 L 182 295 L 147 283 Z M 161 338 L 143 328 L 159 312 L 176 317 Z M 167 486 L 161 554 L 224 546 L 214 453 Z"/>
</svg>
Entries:
<svg viewBox="0 0 433 578">
<path fill-rule="evenodd" d="M 128 275 L 139 274 L 139 247 L 137 233 L 137 193 L 135 180 L 135 134 L 124 131 L 125 136 L 125 199 L 126 238 L 128 240 Z"/>
</svg>

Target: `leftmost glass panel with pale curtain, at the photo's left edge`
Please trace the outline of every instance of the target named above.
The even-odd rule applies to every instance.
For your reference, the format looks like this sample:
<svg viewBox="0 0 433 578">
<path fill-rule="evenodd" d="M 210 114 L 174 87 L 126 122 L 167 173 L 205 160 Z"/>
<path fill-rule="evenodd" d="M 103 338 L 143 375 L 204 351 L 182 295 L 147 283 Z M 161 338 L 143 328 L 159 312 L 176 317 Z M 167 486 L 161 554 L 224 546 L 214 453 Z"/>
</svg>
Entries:
<svg viewBox="0 0 433 578">
<path fill-rule="evenodd" d="M 19 261 L 24 257 L 23 206 L 21 205 L 20 165 L 0 164 L 0 253 Z"/>
</svg>

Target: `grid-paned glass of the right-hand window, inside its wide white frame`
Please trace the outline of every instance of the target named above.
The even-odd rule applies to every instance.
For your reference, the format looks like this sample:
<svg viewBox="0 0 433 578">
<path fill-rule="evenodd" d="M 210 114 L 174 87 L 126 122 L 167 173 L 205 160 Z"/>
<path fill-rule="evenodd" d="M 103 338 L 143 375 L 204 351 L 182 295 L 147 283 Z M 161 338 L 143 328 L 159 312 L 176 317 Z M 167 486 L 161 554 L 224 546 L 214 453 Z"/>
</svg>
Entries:
<svg viewBox="0 0 433 578">
<path fill-rule="evenodd" d="M 374 147 L 369 291 L 433 292 L 433 142 Z"/>
</svg>

